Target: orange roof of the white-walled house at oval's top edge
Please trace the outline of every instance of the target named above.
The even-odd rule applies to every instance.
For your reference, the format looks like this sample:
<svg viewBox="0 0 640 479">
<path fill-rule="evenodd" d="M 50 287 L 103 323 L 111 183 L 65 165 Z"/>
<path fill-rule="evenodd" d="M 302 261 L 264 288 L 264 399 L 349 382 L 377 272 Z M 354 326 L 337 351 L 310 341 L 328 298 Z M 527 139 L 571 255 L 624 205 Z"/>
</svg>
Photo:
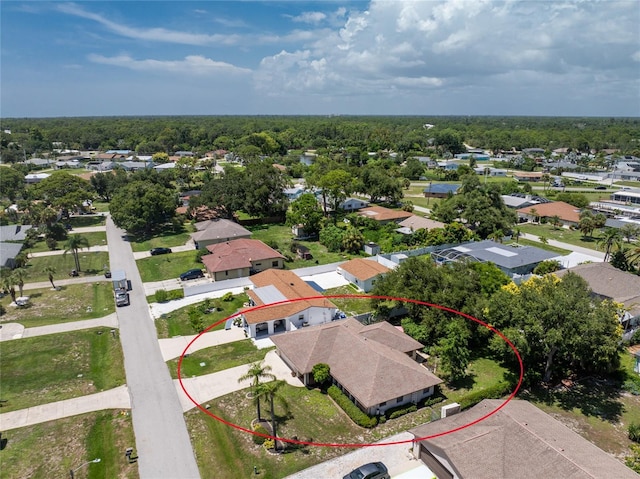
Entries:
<svg viewBox="0 0 640 479">
<path fill-rule="evenodd" d="M 202 258 L 204 260 L 206 256 L 203 256 Z M 256 288 L 274 286 L 286 299 L 313 298 L 321 296 L 315 289 L 305 283 L 292 271 L 268 269 L 251 276 L 251 282 Z M 256 306 L 265 304 L 255 291 L 249 290 L 247 291 L 247 294 Z M 246 311 L 243 315 L 247 323 L 257 324 L 274 319 L 289 317 L 311 307 L 336 309 L 336 306 L 328 299 L 317 298 L 279 304 L 255 311 Z"/>
</svg>

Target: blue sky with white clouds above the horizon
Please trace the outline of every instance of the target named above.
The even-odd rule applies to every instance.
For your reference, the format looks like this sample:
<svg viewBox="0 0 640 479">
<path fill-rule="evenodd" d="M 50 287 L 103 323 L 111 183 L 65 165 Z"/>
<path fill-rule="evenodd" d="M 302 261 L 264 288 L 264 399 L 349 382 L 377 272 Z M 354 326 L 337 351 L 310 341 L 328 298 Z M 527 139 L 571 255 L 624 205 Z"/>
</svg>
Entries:
<svg viewBox="0 0 640 479">
<path fill-rule="evenodd" d="M 640 116 L 629 1 L 0 2 L 0 115 Z"/>
</svg>

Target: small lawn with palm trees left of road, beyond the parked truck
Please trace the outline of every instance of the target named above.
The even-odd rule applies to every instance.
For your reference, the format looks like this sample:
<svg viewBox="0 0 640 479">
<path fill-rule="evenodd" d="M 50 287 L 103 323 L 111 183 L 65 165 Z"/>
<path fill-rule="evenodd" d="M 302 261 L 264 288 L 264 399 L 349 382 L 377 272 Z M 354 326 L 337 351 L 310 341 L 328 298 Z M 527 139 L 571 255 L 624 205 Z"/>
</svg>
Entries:
<svg viewBox="0 0 640 479">
<path fill-rule="evenodd" d="M 104 266 L 109 265 L 109 254 L 106 252 L 89 253 L 80 250 L 78 256 L 80 257 L 80 276 L 101 275 L 104 273 Z M 76 267 L 71 253 L 29 258 L 26 266 L 28 274 L 26 282 L 49 281 L 49 275 L 44 272 L 47 266 L 57 271 L 54 281 L 68 278 L 69 272 Z"/>
</svg>

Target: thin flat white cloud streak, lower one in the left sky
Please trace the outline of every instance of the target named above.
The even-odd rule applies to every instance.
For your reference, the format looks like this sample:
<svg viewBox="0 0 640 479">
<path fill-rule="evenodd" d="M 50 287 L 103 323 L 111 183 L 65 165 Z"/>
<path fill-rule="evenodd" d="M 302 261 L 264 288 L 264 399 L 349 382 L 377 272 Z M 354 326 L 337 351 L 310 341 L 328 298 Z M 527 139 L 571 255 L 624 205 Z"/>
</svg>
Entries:
<svg viewBox="0 0 640 479">
<path fill-rule="evenodd" d="M 230 63 L 218 62 L 205 58 L 200 55 L 189 55 L 183 60 L 135 60 L 129 55 L 119 55 L 115 57 L 105 57 L 102 55 L 91 54 L 89 61 L 100 63 L 102 65 L 111 65 L 130 70 L 145 72 L 172 72 L 181 74 L 248 74 L 251 70 L 239 68 Z"/>
</svg>

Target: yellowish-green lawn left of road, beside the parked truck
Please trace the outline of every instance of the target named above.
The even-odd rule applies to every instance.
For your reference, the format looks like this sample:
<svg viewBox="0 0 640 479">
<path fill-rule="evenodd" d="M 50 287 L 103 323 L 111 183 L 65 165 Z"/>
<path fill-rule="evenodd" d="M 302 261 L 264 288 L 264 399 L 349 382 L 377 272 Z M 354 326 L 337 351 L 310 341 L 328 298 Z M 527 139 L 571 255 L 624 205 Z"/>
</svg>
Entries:
<svg viewBox="0 0 640 479">
<path fill-rule="evenodd" d="M 82 283 L 52 288 L 27 290 L 29 304 L 17 308 L 9 306 L 10 296 L 0 299 L 6 313 L 3 323 L 16 322 L 25 328 L 66 323 L 81 319 L 101 318 L 115 311 L 111 283 Z"/>
</svg>

